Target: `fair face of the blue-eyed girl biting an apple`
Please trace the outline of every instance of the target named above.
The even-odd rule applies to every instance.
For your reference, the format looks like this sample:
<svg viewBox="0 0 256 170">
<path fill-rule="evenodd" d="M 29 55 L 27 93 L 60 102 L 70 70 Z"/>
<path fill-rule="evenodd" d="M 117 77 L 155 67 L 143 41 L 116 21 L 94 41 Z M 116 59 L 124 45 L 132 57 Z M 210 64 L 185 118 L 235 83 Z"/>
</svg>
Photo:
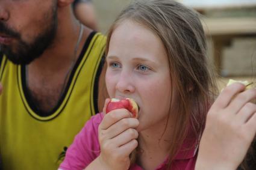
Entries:
<svg viewBox="0 0 256 170">
<path fill-rule="evenodd" d="M 136 22 L 123 21 L 111 35 L 107 65 L 110 97 L 133 98 L 139 105 L 137 130 L 163 126 L 169 114 L 171 81 L 160 38 Z"/>
</svg>

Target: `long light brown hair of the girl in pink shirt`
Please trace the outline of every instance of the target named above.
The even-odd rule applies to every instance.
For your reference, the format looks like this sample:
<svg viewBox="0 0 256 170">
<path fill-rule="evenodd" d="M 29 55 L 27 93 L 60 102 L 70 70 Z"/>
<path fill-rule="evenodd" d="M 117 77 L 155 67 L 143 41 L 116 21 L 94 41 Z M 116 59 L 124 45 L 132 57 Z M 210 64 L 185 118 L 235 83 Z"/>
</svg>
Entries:
<svg viewBox="0 0 256 170">
<path fill-rule="evenodd" d="M 161 39 L 168 56 L 172 87 L 176 87 L 180 100 L 178 112 L 172 115 L 176 130 L 169 152 L 170 166 L 187 136 L 200 138 L 216 93 L 216 82 L 207 62 L 204 30 L 198 14 L 178 2 L 139 0 L 126 7 L 111 26 L 107 53 L 111 34 L 123 20 L 132 20 L 151 30 Z M 195 142 L 198 141 L 193 141 L 190 147 Z"/>
</svg>

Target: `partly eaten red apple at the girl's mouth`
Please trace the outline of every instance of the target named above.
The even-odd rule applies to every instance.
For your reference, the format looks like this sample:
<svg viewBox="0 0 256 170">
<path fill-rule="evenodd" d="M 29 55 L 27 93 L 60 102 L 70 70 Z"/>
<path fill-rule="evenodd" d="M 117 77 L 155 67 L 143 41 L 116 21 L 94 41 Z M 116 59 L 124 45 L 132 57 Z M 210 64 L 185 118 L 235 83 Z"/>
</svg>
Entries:
<svg viewBox="0 0 256 170">
<path fill-rule="evenodd" d="M 133 118 L 138 118 L 139 107 L 133 99 L 111 99 L 107 104 L 106 114 L 115 109 L 127 109 L 131 114 L 133 114 Z"/>
</svg>

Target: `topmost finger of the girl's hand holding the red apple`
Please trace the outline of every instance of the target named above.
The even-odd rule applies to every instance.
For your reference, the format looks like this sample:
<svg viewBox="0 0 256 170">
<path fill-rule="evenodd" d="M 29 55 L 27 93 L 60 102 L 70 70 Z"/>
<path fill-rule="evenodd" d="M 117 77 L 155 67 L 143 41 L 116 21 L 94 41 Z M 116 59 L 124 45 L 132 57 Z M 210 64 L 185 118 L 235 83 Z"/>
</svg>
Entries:
<svg viewBox="0 0 256 170">
<path fill-rule="evenodd" d="M 126 109 L 113 110 L 104 116 L 101 124 L 99 124 L 99 129 L 107 130 L 111 125 L 113 125 L 117 121 L 120 121 L 123 118 L 130 118 L 130 117 L 131 117 L 131 114 Z"/>
</svg>

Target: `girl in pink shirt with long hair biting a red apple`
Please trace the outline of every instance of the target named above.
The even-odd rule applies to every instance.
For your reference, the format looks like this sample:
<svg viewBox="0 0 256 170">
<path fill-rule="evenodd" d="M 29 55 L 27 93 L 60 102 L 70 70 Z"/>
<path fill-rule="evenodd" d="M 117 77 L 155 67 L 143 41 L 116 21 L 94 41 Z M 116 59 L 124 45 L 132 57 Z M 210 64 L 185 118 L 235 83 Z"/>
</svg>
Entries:
<svg viewBox="0 0 256 170">
<path fill-rule="evenodd" d="M 194 169 L 216 92 L 198 15 L 174 1 L 136 1 L 111 26 L 106 52 L 108 94 L 136 100 L 139 118 L 132 118 L 126 109 L 107 115 L 104 109 L 93 116 L 68 148 L 60 169 Z M 244 88 L 240 83 L 226 88 L 223 95 L 228 97 L 220 96 L 210 115 L 224 112 L 232 96 Z M 249 101 L 256 96 L 252 92 L 236 99 L 243 94 Z M 226 103 L 221 103 L 223 99 Z M 209 161 L 213 158 L 205 151 L 215 129 L 207 127 L 198 169 L 214 168 L 215 162 Z M 213 144 L 219 146 L 219 141 Z M 231 166 L 226 163 L 225 167 Z"/>
</svg>

